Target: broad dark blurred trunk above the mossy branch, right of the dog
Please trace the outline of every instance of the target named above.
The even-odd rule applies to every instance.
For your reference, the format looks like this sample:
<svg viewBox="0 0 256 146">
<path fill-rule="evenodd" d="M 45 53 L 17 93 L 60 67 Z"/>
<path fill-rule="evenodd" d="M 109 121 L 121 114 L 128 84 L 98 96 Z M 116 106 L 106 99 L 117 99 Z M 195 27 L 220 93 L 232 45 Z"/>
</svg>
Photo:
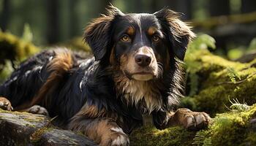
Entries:
<svg viewBox="0 0 256 146">
<path fill-rule="evenodd" d="M 211 16 L 229 15 L 230 1 L 229 0 L 210 0 L 209 9 Z"/>
</svg>

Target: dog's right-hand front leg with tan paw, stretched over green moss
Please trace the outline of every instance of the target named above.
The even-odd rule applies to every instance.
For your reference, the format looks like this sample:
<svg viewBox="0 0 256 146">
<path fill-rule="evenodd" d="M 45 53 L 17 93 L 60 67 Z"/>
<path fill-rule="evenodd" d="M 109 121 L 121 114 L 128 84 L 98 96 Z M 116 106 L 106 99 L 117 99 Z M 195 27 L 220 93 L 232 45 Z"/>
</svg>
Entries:
<svg viewBox="0 0 256 146">
<path fill-rule="evenodd" d="M 206 112 L 192 112 L 186 108 L 178 109 L 176 112 L 170 112 L 167 116 L 167 126 L 183 125 L 189 130 L 206 128 L 211 120 Z"/>
</svg>

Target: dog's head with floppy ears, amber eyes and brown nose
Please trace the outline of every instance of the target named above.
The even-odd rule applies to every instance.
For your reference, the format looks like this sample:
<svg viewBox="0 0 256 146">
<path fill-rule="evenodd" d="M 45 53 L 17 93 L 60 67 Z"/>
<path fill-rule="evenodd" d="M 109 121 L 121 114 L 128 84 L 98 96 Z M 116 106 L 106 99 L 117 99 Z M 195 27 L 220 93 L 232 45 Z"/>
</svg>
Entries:
<svg viewBox="0 0 256 146">
<path fill-rule="evenodd" d="M 95 60 L 116 66 L 133 80 L 161 77 L 172 58 L 184 60 L 195 36 L 170 9 L 154 14 L 124 14 L 110 6 L 108 13 L 87 26 L 84 39 Z"/>
</svg>

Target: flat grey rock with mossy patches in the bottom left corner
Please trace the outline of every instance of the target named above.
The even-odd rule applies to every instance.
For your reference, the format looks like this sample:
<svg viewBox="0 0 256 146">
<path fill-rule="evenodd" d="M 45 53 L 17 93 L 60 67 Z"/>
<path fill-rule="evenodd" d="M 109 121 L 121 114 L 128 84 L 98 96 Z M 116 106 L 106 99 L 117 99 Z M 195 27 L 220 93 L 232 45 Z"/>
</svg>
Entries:
<svg viewBox="0 0 256 146">
<path fill-rule="evenodd" d="M 44 115 L 0 109 L 0 145 L 97 145 L 84 135 L 50 122 Z"/>
</svg>

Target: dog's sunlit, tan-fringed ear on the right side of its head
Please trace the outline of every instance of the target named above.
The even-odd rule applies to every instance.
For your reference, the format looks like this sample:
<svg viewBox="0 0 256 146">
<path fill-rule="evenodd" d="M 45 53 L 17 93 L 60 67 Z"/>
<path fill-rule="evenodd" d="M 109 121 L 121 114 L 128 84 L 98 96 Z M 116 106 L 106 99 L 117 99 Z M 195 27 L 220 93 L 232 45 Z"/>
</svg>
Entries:
<svg viewBox="0 0 256 146">
<path fill-rule="evenodd" d="M 154 15 L 159 20 L 163 31 L 170 40 L 173 53 L 178 59 L 183 61 L 187 45 L 195 37 L 195 34 L 186 23 L 179 19 L 180 15 L 177 12 L 165 8 L 155 12 Z"/>
</svg>

